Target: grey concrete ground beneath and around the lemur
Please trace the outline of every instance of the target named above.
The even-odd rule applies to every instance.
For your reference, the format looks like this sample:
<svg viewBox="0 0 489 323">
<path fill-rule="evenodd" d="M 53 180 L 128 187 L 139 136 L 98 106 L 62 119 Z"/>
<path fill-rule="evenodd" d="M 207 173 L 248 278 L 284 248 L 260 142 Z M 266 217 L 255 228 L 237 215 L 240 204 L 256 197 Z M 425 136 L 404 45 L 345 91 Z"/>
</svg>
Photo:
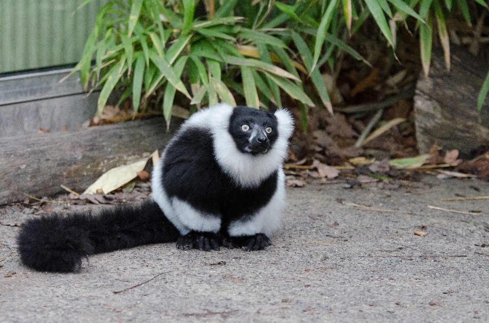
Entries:
<svg viewBox="0 0 489 323">
<path fill-rule="evenodd" d="M 0 208 L 0 259 L 14 251 L 0 262 L 0 321 L 489 321 L 489 200 L 440 200 L 487 196 L 489 183 L 427 176 L 287 194 L 264 251 L 148 245 L 92 256 L 77 274 L 24 267 L 8 224 L 36 215 Z"/>
</svg>

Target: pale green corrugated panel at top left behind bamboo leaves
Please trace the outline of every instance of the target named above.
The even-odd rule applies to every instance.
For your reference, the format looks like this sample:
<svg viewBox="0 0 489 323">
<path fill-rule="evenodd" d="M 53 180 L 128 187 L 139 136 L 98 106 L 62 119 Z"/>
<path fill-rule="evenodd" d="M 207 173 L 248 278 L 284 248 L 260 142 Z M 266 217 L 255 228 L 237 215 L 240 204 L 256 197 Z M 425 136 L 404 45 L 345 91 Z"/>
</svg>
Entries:
<svg viewBox="0 0 489 323">
<path fill-rule="evenodd" d="M 107 0 L 0 0 L 0 73 L 72 64 Z"/>
</svg>

